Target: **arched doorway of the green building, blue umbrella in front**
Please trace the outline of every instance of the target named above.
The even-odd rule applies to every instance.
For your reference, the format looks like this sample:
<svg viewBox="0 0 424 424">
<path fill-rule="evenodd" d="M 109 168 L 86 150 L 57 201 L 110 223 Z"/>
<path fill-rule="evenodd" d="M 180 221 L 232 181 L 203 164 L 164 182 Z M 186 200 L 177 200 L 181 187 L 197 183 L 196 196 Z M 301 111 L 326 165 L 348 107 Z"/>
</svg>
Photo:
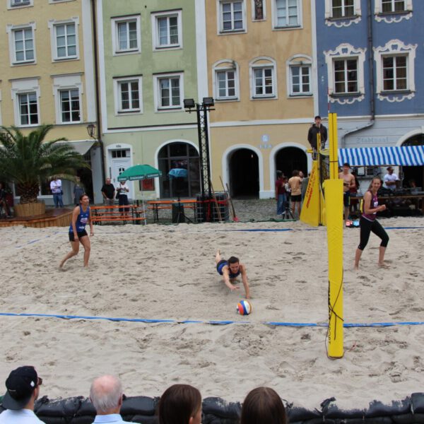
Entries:
<svg viewBox="0 0 424 424">
<path fill-rule="evenodd" d="M 172 142 L 158 153 L 160 197 L 193 197 L 200 192 L 199 153 L 189 143 Z"/>
</svg>

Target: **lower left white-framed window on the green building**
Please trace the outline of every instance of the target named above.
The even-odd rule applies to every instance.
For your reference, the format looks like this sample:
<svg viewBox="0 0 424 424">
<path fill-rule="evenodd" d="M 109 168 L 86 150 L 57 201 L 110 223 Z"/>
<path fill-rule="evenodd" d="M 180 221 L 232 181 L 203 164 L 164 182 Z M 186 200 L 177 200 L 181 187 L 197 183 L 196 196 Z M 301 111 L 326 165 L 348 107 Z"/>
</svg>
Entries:
<svg viewBox="0 0 424 424">
<path fill-rule="evenodd" d="M 142 113 L 141 76 L 114 78 L 115 112 Z"/>
</svg>

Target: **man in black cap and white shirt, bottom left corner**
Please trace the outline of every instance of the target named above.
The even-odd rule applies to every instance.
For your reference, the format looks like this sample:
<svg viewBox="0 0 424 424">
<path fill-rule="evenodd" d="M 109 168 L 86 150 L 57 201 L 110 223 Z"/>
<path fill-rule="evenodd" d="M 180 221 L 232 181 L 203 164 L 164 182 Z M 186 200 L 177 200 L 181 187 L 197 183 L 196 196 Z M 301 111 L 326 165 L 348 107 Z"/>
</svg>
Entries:
<svg viewBox="0 0 424 424">
<path fill-rule="evenodd" d="M 40 424 L 34 413 L 34 403 L 40 394 L 42 379 L 34 367 L 19 367 L 6 379 L 6 394 L 0 413 L 0 424 Z"/>
</svg>

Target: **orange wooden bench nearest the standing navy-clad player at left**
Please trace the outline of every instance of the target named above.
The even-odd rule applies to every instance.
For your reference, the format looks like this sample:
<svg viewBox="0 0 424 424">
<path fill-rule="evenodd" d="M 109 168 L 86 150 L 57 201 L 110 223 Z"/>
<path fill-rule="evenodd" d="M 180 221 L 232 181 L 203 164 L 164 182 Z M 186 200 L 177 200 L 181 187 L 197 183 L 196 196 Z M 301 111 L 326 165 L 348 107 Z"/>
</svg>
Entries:
<svg viewBox="0 0 424 424">
<path fill-rule="evenodd" d="M 91 220 L 93 224 L 121 221 L 126 224 L 132 221 L 133 224 L 139 224 L 146 220 L 144 210 L 139 205 L 113 205 L 113 206 L 91 206 Z"/>
</svg>

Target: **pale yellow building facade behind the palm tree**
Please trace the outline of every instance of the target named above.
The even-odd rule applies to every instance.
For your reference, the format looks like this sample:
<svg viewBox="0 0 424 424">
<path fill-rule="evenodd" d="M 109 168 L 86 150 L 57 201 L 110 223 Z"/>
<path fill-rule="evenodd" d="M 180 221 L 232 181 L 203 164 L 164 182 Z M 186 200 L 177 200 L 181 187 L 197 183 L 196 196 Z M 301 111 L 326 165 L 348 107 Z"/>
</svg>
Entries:
<svg viewBox="0 0 424 424">
<path fill-rule="evenodd" d="M 101 175 L 101 158 L 87 131 L 88 123 L 96 121 L 91 2 L 6 1 L 0 37 L 1 124 L 24 133 L 54 124 L 49 139 L 66 137 L 86 155 L 92 170 L 81 170 L 81 180 L 93 197 L 93 174 Z M 42 183 L 40 198 L 49 204 L 52 196 Z M 66 204 L 73 203 L 72 189 L 71 182 L 64 182 Z"/>
</svg>

